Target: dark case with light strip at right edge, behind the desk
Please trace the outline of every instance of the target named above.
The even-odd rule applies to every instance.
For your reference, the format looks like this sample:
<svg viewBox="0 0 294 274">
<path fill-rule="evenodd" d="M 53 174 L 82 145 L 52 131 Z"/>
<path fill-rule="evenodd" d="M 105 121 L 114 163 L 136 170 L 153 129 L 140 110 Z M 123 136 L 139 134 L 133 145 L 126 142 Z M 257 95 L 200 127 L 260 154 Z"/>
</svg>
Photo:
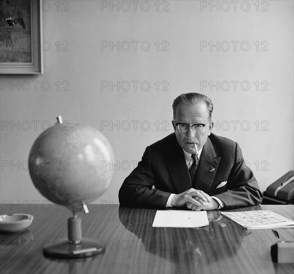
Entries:
<svg viewBox="0 0 294 274">
<path fill-rule="evenodd" d="M 267 187 L 263 193 L 264 205 L 294 204 L 294 170 L 287 172 Z"/>
</svg>

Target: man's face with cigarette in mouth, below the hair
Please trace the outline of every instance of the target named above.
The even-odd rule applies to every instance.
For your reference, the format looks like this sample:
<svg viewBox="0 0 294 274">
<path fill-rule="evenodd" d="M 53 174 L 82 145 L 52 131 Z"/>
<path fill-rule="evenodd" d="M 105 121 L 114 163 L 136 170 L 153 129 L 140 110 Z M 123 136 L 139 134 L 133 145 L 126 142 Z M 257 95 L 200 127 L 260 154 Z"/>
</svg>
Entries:
<svg viewBox="0 0 294 274">
<path fill-rule="evenodd" d="M 197 103 L 191 106 L 178 105 L 176 107 L 175 117 L 172 126 L 179 145 L 188 153 L 196 153 L 194 144 L 196 143 L 198 150 L 206 143 L 207 137 L 211 133 L 212 125 L 208 124 L 203 127 L 202 132 L 194 133 L 190 127 L 186 133 L 179 132 L 175 123 L 183 123 L 189 126 L 194 124 L 206 124 L 208 119 L 208 110 L 205 103 Z M 204 122 L 206 121 L 206 122 Z"/>
</svg>

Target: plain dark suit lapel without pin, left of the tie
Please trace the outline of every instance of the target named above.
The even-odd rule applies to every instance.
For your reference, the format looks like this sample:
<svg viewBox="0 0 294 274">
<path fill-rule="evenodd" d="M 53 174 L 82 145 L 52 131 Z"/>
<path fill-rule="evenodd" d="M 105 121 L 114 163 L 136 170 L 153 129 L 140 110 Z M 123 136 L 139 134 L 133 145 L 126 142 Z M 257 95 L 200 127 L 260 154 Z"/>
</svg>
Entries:
<svg viewBox="0 0 294 274">
<path fill-rule="evenodd" d="M 186 165 L 185 157 L 182 148 L 178 144 L 174 136 L 174 142 L 167 153 L 165 159 L 168 173 L 177 193 L 182 193 L 192 187 L 191 177 Z"/>
</svg>

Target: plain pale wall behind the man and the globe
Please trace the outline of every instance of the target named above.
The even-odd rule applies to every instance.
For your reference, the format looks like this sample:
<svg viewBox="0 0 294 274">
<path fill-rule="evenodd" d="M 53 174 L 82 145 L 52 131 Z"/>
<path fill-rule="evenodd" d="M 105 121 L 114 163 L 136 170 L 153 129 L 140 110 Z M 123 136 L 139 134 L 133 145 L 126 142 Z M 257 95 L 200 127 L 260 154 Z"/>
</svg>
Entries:
<svg viewBox="0 0 294 274">
<path fill-rule="evenodd" d="M 44 73 L 1 75 L 1 83 L 9 82 L 0 91 L 1 125 L 9 124 L 1 127 L 1 202 L 46 200 L 33 186 L 26 161 L 34 140 L 47 128 L 45 121 L 53 125 L 62 115 L 69 123 L 96 127 L 112 144 L 115 160 L 109 168 L 115 170 L 114 178 L 94 203 L 118 203 L 119 188 L 146 146 L 173 132 L 172 102 L 187 92 L 212 99 L 213 132 L 240 144 L 262 191 L 293 169 L 293 1 L 264 1 L 267 7 L 259 1 L 259 11 L 256 1 L 249 1 L 248 11 L 241 9 L 241 1 L 236 11 L 232 3 L 224 11 L 228 6 L 222 1 L 213 1 L 221 4 L 219 11 L 216 7 L 210 11 L 209 6 L 201 11 L 201 1 L 185 0 L 159 1 L 158 11 L 155 1 L 145 1 L 143 8 L 150 4 L 147 11 L 141 3 L 134 11 L 131 1 L 123 6 L 126 10 L 129 3 L 129 11 L 111 10 L 110 5 L 101 10 L 106 1 L 90 0 L 69 1 L 68 11 L 61 11 L 62 6 L 57 11 L 54 1 L 50 2 L 51 8 L 45 6 L 42 11 L 43 41 L 51 45 L 50 50 L 43 50 Z M 202 5 L 206 3 L 209 1 L 202 1 Z M 248 7 L 244 4 L 242 8 Z M 102 48 L 102 41 L 128 41 L 132 47 L 128 50 L 128 42 L 124 42 L 124 50 Z M 136 51 L 131 41 L 139 41 Z M 150 44 L 149 50 L 141 49 L 143 41 Z M 201 41 L 219 41 L 219 50 L 201 49 Z M 231 41 L 238 41 L 234 42 L 236 50 Z M 67 44 L 68 51 L 62 51 Z M 11 81 L 19 82 L 20 88 L 10 86 Z M 29 90 L 21 88 L 24 81 L 31 83 Z M 32 81 L 38 81 L 37 90 Z M 59 91 L 54 84 L 57 81 Z M 137 91 L 133 86 L 127 90 L 127 82 L 125 91 L 116 87 L 111 91 L 110 86 L 102 90 L 102 81 L 140 82 Z M 143 81 L 147 81 L 145 89 L 150 83 L 148 91 L 141 89 Z M 222 84 L 218 91 L 214 86 L 201 90 L 200 83 L 207 83 L 203 81 Z M 224 81 L 231 84 L 227 91 Z M 231 81 L 239 81 L 235 90 Z M 240 87 L 243 81 L 247 82 Z M 45 91 L 48 82 L 51 88 Z M 166 83 L 168 87 L 161 90 Z M 250 88 L 246 91 L 247 83 Z M 30 130 L 23 121 L 28 121 Z M 139 121 L 136 130 L 132 121 Z M 16 126 L 11 128 L 12 124 Z"/>
</svg>

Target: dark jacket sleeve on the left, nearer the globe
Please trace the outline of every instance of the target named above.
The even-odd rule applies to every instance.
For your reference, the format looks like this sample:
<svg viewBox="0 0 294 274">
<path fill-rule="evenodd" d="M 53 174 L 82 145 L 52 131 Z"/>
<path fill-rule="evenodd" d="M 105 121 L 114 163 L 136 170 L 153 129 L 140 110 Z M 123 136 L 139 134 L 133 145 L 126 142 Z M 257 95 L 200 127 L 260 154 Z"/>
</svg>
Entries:
<svg viewBox="0 0 294 274">
<path fill-rule="evenodd" d="M 130 207 L 165 208 L 171 193 L 152 188 L 152 172 L 149 147 L 147 146 L 142 160 L 125 179 L 119 191 L 121 205 Z"/>
</svg>

